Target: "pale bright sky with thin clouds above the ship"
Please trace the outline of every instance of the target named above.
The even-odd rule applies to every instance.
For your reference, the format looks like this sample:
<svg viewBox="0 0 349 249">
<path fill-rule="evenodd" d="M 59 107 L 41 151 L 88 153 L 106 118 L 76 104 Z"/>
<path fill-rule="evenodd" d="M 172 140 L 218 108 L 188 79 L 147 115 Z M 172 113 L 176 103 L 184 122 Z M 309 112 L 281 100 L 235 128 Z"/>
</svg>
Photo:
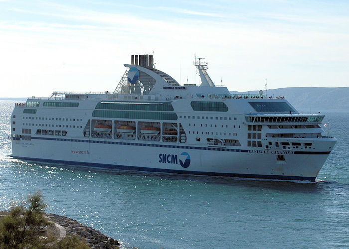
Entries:
<svg viewBox="0 0 349 249">
<path fill-rule="evenodd" d="M 132 54 L 230 91 L 349 86 L 347 0 L 0 0 L 0 97 L 113 92 Z"/>
</svg>

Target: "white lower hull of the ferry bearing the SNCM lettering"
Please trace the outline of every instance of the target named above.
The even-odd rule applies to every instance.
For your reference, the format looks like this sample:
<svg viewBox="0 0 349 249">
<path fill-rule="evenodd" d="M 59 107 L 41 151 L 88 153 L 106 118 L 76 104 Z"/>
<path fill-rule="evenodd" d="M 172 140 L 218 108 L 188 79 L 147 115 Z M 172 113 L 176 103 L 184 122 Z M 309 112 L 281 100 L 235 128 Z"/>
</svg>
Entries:
<svg viewBox="0 0 349 249">
<path fill-rule="evenodd" d="M 32 138 L 31 141 L 14 141 L 12 156 L 115 169 L 314 181 L 329 155 L 329 152 L 312 151 L 308 154 L 294 154 L 281 150 L 253 152 L 246 149 L 191 146 L 169 148 L 160 143 L 158 146 L 152 143 L 104 143 L 107 140 L 98 143 L 86 139 L 55 141 Z M 327 145 L 333 146 L 334 143 L 335 141 L 328 141 Z M 128 155 L 130 149 L 137 156 L 122 156 Z M 181 155 L 183 152 L 189 155 L 188 165 L 185 165 L 187 155 Z M 276 153 L 286 153 L 286 162 L 278 163 L 275 159 Z"/>
</svg>

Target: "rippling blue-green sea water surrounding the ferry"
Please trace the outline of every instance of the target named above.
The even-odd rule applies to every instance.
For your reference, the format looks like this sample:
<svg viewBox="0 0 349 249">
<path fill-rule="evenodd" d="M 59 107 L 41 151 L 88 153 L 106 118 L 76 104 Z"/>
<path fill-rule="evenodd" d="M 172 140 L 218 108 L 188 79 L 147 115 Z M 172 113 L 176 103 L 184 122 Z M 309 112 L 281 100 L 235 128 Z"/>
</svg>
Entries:
<svg viewBox="0 0 349 249">
<path fill-rule="evenodd" d="M 12 159 L 7 136 L 15 102 L 0 101 L 0 210 L 39 190 L 47 212 L 127 247 L 349 247 L 348 112 L 324 112 L 325 130 L 338 142 L 318 182 L 300 183 Z"/>
</svg>

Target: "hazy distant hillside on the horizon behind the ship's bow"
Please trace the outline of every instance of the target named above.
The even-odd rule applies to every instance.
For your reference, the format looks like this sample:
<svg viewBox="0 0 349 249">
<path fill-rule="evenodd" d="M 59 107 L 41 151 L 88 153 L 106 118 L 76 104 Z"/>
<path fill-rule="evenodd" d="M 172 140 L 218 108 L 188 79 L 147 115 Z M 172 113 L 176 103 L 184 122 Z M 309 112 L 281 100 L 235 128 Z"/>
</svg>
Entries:
<svg viewBox="0 0 349 249">
<path fill-rule="evenodd" d="M 258 91 L 231 92 L 257 94 Z M 349 87 L 287 87 L 268 89 L 267 96 L 285 96 L 296 109 L 302 111 L 349 110 Z"/>
</svg>

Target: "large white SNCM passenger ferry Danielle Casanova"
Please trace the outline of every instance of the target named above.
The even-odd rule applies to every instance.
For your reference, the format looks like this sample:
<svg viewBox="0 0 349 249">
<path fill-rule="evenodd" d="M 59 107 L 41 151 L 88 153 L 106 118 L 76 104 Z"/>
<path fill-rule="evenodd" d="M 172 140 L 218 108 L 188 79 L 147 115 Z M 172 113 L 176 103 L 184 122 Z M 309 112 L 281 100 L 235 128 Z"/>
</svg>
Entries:
<svg viewBox="0 0 349 249">
<path fill-rule="evenodd" d="M 180 85 L 132 55 L 114 92 L 53 92 L 17 103 L 12 157 L 113 169 L 315 181 L 336 138 L 324 115 L 283 97 L 232 95 L 196 58 L 201 84 Z"/>
</svg>

